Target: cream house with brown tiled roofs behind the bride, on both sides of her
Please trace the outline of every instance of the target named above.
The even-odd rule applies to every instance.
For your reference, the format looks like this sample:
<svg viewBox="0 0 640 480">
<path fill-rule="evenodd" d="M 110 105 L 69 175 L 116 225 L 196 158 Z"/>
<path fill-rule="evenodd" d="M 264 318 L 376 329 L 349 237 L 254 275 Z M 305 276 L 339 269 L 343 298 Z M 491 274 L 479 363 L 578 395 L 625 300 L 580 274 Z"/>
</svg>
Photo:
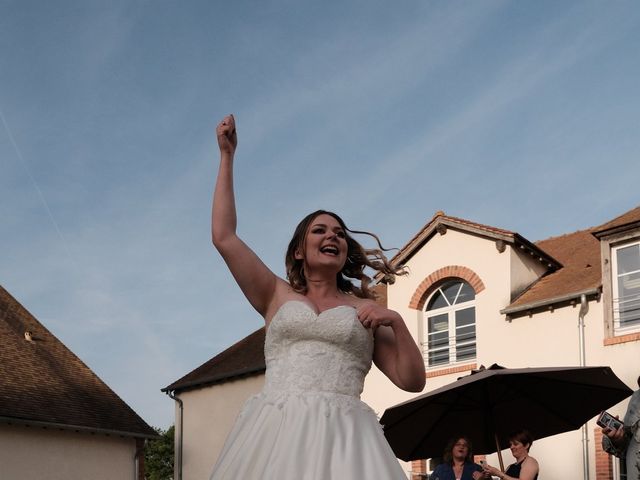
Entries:
<svg viewBox="0 0 640 480">
<path fill-rule="evenodd" d="M 422 348 L 426 390 L 493 363 L 607 365 L 636 388 L 640 207 L 603 225 L 539 242 L 438 212 L 393 262 L 409 274 L 386 285 L 383 297 Z M 167 387 L 184 407 L 183 439 L 176 442 L 183 445 L 185 480 L 210 471 L 243 400 L 260 389 L 263 336 L 263 330 L 255 332 L 185 376 L 184 383 Z M 414 396 L 373 368 L 362 398 L 382 415 Z M 610 411 L 622 417 L 626 403 Z M 541 477 L 585 478 L 584 462 L 586 478 L 624 478 L 617 459 L 601 450 L 593 420 L 584 432 L 584 443 L 580 430 L 535 441 L 532 455 L 541 463 Z M 510 463 L 511 454 L 503 456 Z M 498 463 L 495 454 L 487 460 Z M 427 461 L 403 465 L 412 479 L 432 469 Z"/>
</svg>

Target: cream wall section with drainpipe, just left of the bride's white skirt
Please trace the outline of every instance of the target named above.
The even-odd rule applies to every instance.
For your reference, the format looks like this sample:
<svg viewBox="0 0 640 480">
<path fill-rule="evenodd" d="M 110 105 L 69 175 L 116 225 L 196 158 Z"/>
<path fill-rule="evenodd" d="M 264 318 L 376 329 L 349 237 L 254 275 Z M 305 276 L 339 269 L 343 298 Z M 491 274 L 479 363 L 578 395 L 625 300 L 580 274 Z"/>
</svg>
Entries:
<svg viewBox="0 0 640 480">
<path fill-rule="evenodd" d="M 184 405 L 183 480 L 209 478 L 244 402 L 263 385 L 264 375 L 253 375 L 180 394 Z M 176 421 L 176 452 L 179 441 Z"/>
</svg>

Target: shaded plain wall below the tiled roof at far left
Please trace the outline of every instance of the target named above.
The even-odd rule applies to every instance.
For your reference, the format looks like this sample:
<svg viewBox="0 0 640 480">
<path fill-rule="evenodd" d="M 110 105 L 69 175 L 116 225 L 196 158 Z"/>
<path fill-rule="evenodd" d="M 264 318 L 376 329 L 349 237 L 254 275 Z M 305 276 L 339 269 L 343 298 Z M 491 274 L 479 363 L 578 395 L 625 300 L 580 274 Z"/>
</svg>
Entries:
<svg viewBox="0 0 640 480">
<path fill-rule="evenodd" d="M 2 480 L 133 480 L 136 441 L 0 424 Z"/>
</svg>

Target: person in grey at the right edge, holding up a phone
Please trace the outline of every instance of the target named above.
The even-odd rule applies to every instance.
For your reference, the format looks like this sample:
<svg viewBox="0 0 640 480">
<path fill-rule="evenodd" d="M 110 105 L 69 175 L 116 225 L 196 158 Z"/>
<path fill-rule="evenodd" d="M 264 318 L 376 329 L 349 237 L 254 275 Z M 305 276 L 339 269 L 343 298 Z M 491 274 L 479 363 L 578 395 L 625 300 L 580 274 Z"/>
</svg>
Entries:
<svg viewBox="0 0 640 480">
<path fill-rule="evenodd" d="M 627 480 L 640 480 L 640 388 L 631 395 L 623 422 L 617 430 L 602 429 L 602 449 L 626 462 Z"/>
</svg>

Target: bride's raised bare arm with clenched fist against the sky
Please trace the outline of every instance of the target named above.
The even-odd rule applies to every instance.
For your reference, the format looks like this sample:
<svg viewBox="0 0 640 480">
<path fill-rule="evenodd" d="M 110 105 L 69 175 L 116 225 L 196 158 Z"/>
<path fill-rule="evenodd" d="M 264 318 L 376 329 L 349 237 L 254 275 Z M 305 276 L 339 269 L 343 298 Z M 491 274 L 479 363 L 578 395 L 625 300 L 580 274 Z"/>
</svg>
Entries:
<svg viewBox="0 0 640 480">
<path fill-rule="evenodd" d="M 233 115 L 217 126 L 220 166 L 211 209 L 211 238 L 251 305 L 263 316 L 273 300 L 278 278 L 236 234 L 233 159 L 238 137 Z"/>
</svg>

